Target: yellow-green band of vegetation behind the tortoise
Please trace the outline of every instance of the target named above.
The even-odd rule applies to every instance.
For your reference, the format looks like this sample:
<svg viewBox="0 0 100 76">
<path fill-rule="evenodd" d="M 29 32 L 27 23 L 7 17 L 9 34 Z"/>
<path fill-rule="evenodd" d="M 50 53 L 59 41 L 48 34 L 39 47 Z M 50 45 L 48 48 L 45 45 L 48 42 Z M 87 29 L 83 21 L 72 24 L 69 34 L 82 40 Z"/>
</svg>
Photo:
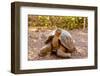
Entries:
<svg viewBox="0 0 100 76">
<path fill-rule="evenodd" d="M 28 16 L 29 27 L 63 28 L 67 30 L 85 29 L 87 17 L 78 16 Z"/>
</svg>

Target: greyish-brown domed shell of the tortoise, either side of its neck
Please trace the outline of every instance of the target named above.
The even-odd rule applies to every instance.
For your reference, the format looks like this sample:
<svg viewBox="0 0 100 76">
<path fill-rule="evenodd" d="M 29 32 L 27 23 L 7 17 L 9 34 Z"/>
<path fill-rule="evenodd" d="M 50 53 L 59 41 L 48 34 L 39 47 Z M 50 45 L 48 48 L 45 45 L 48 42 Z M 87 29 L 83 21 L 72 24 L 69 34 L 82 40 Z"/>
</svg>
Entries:
<svg viewBox="0 0 100 76">
<path fill-rule="evenodd" d="M 59 40 L 60 40 L 61 44 L 68 50 L 73 51 L 75 49 L 75 45 L 74 45 L 71 34 L 66 30 L 63 30 L 63 29 L 60 29 L 60 30 L 61 30 L 61 35 L 60 35 Z M 56 30 L 52 31 L 49 34 L 49 36 L 51 36 L 51 37 L 54 36 L 55 32 L 56 32 Z"/>
</svg>

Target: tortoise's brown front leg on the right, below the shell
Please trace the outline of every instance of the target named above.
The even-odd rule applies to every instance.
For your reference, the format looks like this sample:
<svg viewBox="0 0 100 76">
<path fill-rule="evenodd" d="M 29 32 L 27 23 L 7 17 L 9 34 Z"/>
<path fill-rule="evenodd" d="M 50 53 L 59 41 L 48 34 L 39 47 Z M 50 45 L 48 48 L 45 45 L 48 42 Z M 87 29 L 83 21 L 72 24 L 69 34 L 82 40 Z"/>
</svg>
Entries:
<svg viewBox="0 0 100 76">
<path fill-rule="evenodd" d="M 57 50 L 57 56 L 62 57 L 62 58 L 70 58 L 71 53 L 65 52 L 66 49 L 63 46 L 60 46 L 60 48 Z"/>
</svg>

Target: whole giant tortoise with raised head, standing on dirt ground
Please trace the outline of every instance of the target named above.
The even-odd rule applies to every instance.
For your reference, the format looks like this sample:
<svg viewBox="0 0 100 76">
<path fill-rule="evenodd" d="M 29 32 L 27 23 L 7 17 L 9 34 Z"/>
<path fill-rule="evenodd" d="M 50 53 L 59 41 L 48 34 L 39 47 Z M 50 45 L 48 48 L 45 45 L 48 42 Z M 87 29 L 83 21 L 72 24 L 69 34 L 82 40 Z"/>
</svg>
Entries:
<svg viewBox="0 0 100 76">
<path fill-rule="evenodd" d="M 55 52 L 59 57 L 70 58 L 74 51 L 76 48 L 71 34 L 58 28 L 48 35 L 45 46 L 40 49 L 39 55 L 45 56 Z"/>
</svg>

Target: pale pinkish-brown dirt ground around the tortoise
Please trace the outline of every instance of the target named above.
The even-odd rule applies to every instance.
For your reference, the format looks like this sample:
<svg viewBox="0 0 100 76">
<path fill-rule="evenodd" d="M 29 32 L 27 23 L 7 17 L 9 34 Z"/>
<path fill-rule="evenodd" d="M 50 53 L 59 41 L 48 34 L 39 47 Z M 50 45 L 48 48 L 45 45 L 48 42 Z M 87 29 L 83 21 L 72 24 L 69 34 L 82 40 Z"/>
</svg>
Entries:
<svg viewBox="0 0 100 76">
<path fill-rule="evenodd" d="M 44 46 L 44 41 L 48 34 L 52 30 L 43 29 L 29 29 L 28 32 L 28 60 L 51 60 L 51 59 L 62 59 L 56 55 L 47 55 L 45 57 L 39 57 L 38 53 L 40 48 Z M 72 54 L 71 59 L 79 59 L 88 57 L 88 33 L 87 29 L 82 30 L 71 30 L 68 31 L 72 35 L 77 48 L 77 53 Z"/>
</svg>

